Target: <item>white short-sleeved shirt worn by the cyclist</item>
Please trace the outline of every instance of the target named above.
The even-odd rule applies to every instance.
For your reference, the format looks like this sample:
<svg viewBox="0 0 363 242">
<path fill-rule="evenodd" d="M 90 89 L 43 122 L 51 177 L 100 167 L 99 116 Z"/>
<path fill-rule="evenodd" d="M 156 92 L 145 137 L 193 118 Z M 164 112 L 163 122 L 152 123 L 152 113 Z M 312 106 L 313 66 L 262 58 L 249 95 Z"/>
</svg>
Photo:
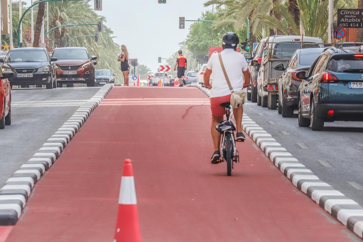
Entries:
<svg viewBox="0 0 363 242">
<path fill-rule="evenodd" d="M 242 71 L 247 70 L 247 62 L 245 57 L 234 49 L 224 49 L 221 52 L 224 68 L 227 72 L 229 81 L 234 91 L 243 89 Z M 218 53 L 213 53 L 207 63 L 207 68 L 212 70 L 213 82 L 210 96 L 211 98 L 223 97 L 231 94 L 228 83 L 224 77 Z"/>
</svg>

